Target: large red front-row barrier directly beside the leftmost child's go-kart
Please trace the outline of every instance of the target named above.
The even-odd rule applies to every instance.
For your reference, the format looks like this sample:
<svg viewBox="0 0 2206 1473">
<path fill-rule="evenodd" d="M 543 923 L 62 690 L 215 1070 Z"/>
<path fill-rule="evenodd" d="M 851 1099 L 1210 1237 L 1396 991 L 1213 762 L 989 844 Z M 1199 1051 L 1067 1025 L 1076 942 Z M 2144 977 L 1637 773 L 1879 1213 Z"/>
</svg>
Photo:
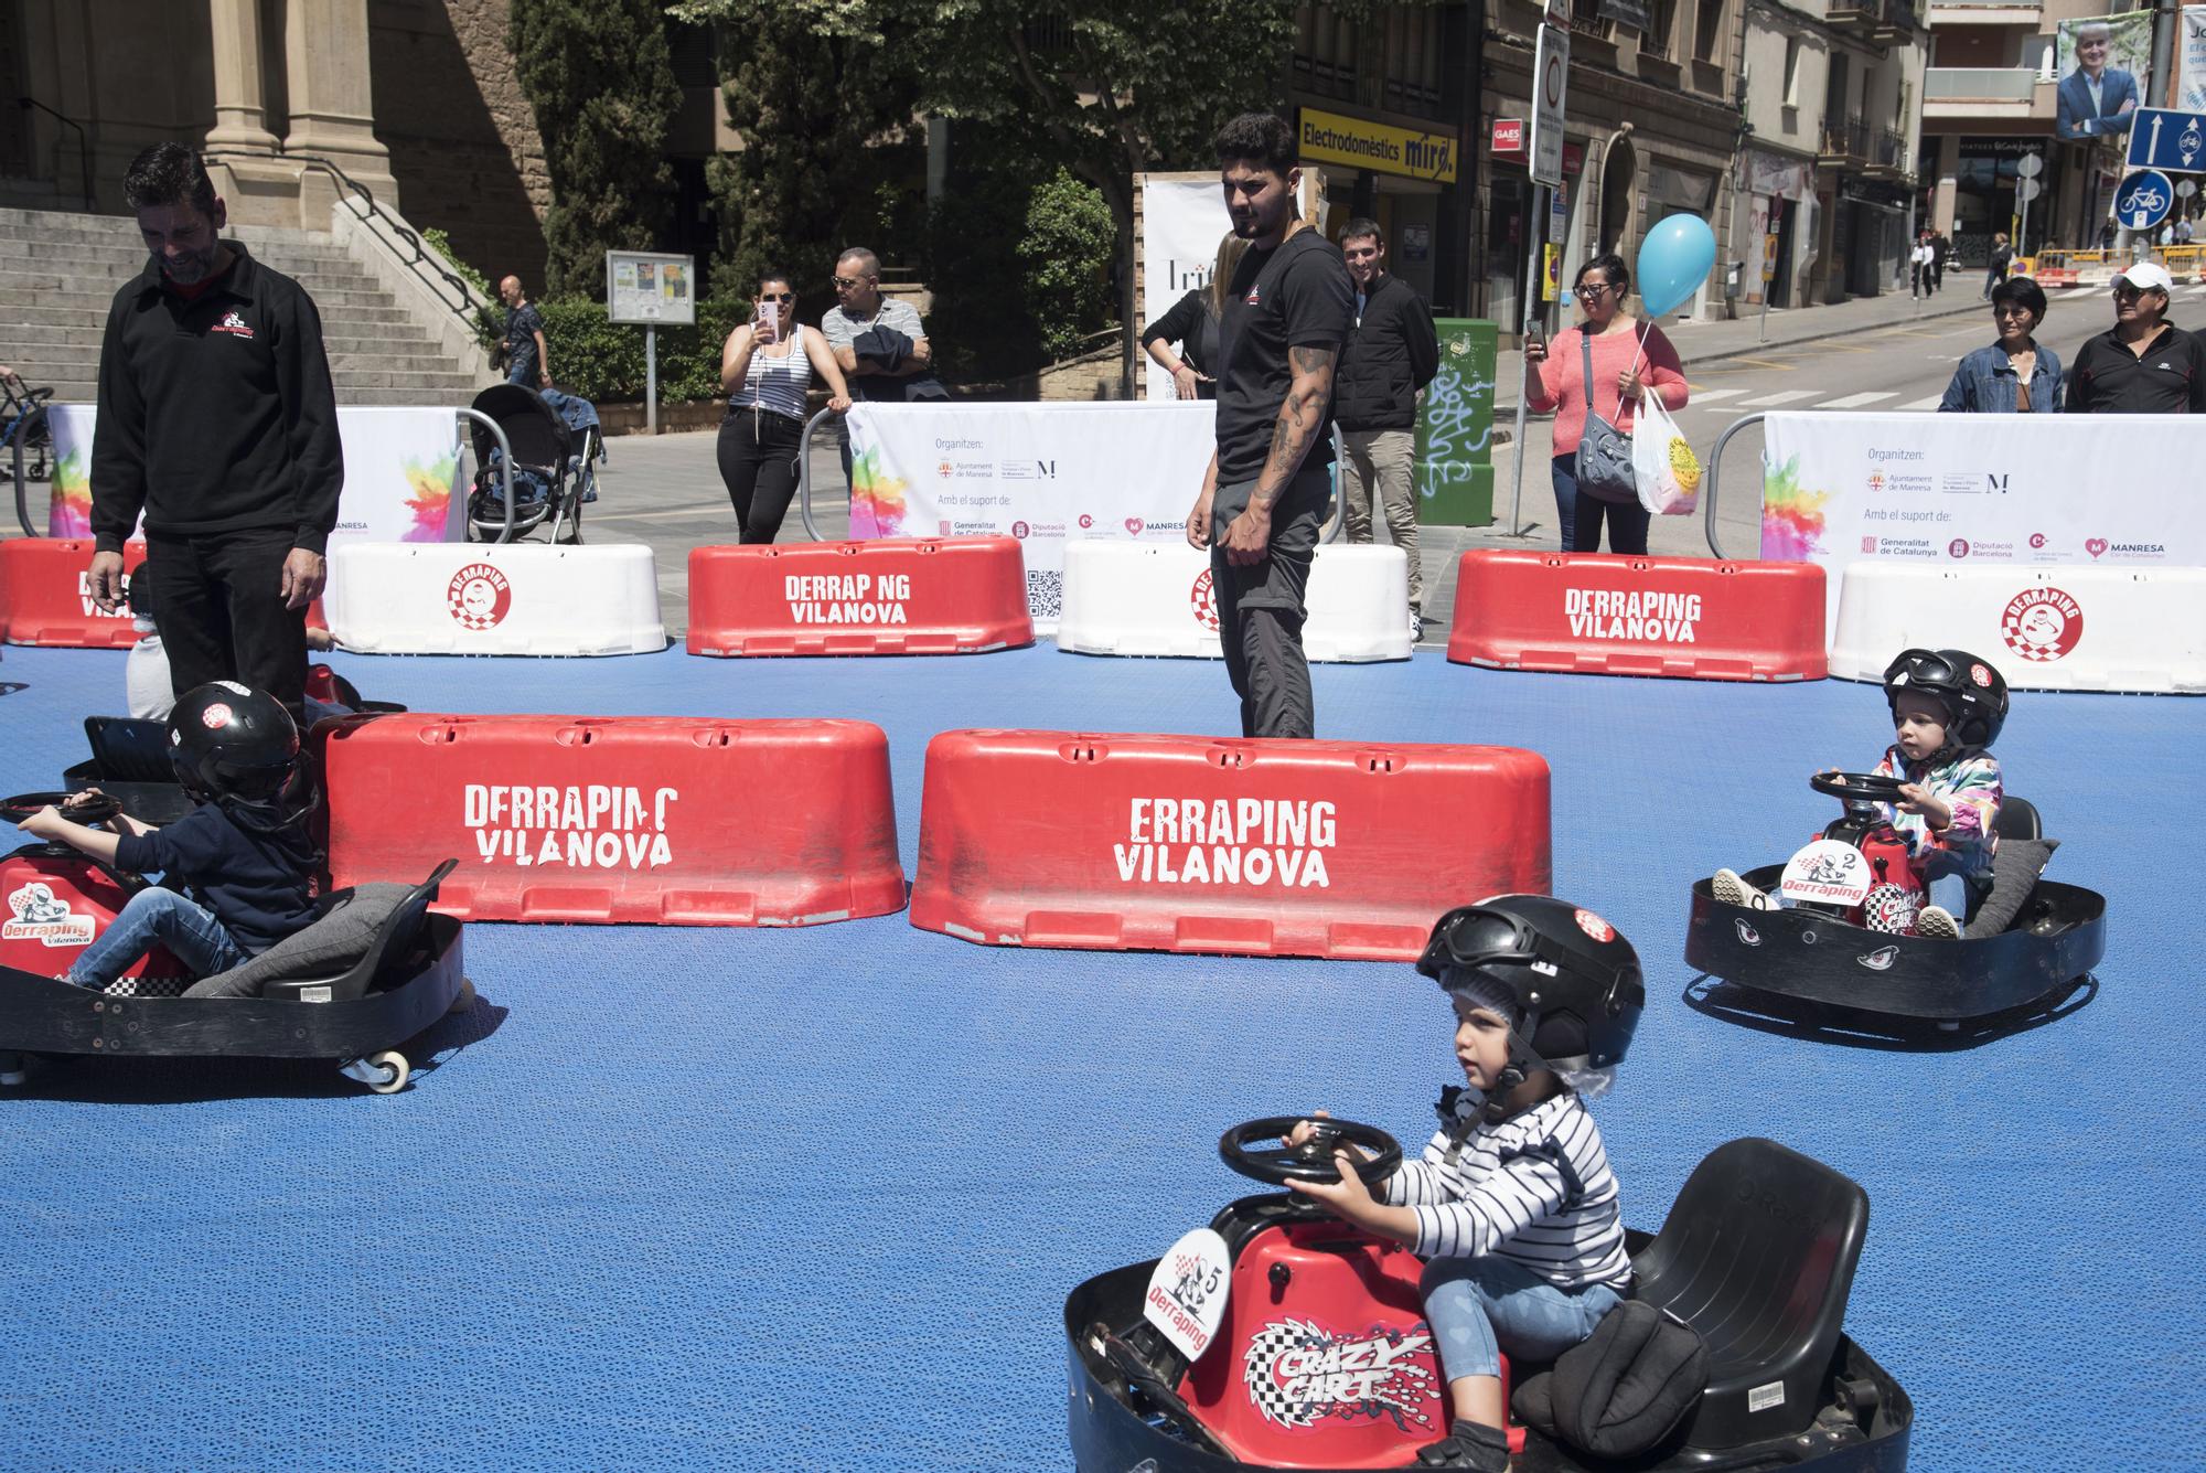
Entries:
<svg viewBox="0 0 2206 1473">
<path fill-rule="evenodd" d="M 331 884 L 459 869 L 468 920 L 814 926 L 904 904 L 867 721 L 349 717 L 318 728 Z"/>
</svg>

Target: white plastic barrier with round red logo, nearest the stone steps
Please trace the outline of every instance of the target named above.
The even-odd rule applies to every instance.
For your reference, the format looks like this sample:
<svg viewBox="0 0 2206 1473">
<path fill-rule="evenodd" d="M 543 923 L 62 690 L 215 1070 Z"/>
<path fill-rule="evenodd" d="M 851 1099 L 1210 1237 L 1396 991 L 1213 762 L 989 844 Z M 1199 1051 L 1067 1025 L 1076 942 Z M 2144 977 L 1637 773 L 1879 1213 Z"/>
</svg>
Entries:
<svg viewBox="0 0 2206 1473">
<path fill-rule="evenodd" d="M 666 648 L 649 547 L 333 542 L 329 633 L 366 655 Z"/>
</svg>

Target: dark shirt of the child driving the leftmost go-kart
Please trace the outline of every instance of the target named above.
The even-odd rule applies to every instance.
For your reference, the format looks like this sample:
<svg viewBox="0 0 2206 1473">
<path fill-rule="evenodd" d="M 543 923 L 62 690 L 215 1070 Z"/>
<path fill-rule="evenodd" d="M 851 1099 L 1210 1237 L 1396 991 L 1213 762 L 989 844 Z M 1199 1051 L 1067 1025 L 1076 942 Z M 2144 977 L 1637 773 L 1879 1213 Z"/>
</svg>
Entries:
<svg viewBox="0 0 2206 1473">
<path fill-rule="evenodd" d="M 170 889 L 190 884 L 199 904 L 258 957 L 313 922 L 315 853 L 302 827 L 249 834 L 214 803 L 172 825 L 115 845 L 121 869 L 159 873 Z"/>
</svg>

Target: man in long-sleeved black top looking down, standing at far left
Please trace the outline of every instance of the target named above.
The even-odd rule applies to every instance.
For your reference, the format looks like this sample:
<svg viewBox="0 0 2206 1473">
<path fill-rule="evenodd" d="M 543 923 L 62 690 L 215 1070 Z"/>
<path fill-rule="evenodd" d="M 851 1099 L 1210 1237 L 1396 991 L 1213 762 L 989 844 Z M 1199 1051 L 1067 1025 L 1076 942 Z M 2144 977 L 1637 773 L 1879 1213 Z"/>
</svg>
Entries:
<svg viewBox="0 0 2206 1473">
<path fill-rule="evenodd" d="M 115 293 L 99 346 L 93 598 L 121 602 L 143 514 L 132 602 L 152 604 L 176 695 L 232 679 L 302 721 L 307 606 L 344 487 L 322 318 L 221 238 L 223 201 L 190 148 L 132 159 L 124 203 L 152 260 Z"/>
</svg>

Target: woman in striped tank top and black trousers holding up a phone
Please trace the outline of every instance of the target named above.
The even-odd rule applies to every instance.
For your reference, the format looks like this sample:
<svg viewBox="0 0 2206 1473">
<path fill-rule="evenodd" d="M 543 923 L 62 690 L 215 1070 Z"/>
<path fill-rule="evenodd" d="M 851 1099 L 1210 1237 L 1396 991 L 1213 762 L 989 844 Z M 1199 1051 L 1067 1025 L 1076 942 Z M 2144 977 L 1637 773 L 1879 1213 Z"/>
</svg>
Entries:
<svg viewBox="0 0 2206 1473">
<path fill-rule="evenodd" d="M 805 430 L 812 375 L 827 384 L 827 408 L 849 408 L 843 368 L 816 329 L 796 322 L 790 278 L 759 278 L 750 322 L 728 333 L 719 351 L 719 386 L 728 417 L 719 423 L 719 479 L 746 542 L 772 542 L 796 494 L 796 452 Z"/>
</svg>

